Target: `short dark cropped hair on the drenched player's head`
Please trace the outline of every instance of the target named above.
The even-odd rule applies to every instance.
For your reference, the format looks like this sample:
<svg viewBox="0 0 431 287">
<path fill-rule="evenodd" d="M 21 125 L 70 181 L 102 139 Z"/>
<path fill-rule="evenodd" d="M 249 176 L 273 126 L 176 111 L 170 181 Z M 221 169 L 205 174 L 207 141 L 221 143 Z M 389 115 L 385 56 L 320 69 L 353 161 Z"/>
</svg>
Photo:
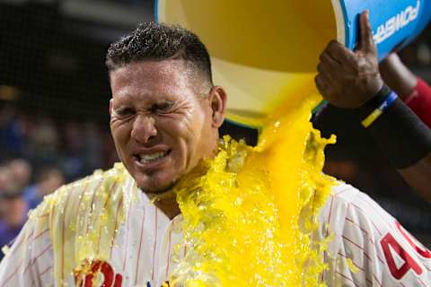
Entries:
<svg viewBox="0 0 431 287">
<path fill-rule="evenodd" d="M 110 44 L 106 65 L 114 71 L 134 62 L 172 57 L 197 67 L 213 84 L 209 54 L 198 36 L 180 26 L 161 22 L 140 23 L 130 34 Z"/>
</svg>

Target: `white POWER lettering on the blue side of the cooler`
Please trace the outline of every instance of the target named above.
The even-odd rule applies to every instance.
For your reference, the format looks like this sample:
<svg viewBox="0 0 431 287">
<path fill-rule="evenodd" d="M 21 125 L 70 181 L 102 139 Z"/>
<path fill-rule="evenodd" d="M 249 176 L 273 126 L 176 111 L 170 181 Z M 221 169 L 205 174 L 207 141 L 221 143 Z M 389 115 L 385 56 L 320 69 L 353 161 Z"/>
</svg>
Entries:
<svg viewBox="0 0 431 287">
<path fill-rule="evenodd" d="M 409 5 L 409 7 L 380 25 L 374 33 L 375 44 L 382 43 L 385 39 L 395 34 L 395 32 L 409 25 L 410 22 L 415 21 L 418 18 L 419 9 L 420 1 L 418 0 L 416 7 Z"/>
</svg>

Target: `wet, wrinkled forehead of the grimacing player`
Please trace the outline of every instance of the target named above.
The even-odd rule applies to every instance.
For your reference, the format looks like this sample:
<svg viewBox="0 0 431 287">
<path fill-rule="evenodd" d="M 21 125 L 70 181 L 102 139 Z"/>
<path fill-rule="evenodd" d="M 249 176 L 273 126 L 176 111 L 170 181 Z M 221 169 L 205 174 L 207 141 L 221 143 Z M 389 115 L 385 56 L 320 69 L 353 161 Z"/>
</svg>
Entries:
<svg viewBox="0 0 431 287">
<path fill-rule="evenodd" d="M 112 95 L 172 93 L 189 88 L 189 74 L 183 60 L 143 61 L 110 72 Z"/>
</svg>

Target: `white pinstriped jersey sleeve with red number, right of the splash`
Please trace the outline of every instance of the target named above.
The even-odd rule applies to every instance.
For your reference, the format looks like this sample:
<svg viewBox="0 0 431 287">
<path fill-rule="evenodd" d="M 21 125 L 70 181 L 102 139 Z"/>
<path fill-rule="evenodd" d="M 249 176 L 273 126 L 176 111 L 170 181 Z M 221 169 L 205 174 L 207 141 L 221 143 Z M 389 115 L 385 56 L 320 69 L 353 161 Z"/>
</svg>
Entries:
<svg viewBox="0 0 431 287">
<path fill-rule="evenodd" d="M 431 286 L 431 252 L 369 196 L 351 189 L 331 199 L 338 218 L 330 221 L 337 239 L 326 255 L 328 285 Z"/>
</svg>

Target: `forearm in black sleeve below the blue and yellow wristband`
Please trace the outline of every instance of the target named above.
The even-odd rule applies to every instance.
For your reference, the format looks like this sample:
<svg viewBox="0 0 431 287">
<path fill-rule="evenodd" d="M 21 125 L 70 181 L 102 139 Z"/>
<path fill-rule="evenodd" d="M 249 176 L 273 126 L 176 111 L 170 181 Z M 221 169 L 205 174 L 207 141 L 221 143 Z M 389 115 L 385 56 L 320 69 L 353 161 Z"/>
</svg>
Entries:
<svg viewBox="0 0 431 287">
<path fill-rule="evenodd" d="M 356 109 L 361 121 L 372 113 L 376 101 L 379 100 L 370 100 Z M 427 188 L 431 186 L 431 130 L 400 99 L 366 130 L 410 187 L 431 201 Z"/>
</svg>

